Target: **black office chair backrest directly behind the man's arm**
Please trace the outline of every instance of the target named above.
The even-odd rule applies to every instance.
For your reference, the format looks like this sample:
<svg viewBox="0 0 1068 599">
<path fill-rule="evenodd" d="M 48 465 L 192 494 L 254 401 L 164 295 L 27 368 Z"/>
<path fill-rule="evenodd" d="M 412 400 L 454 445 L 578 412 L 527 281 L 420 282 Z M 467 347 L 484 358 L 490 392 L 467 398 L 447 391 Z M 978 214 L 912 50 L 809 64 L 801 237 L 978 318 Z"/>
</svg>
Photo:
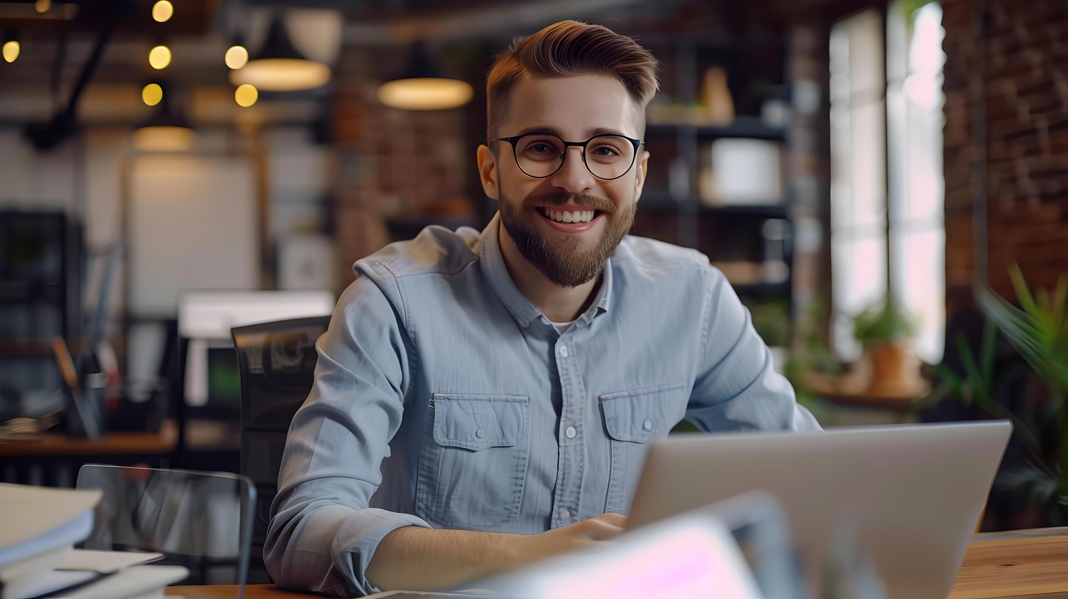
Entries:
<svg viewBox="0 0 1068 599">
<path fill-rule="evenodd" d="M 270 504 L 278 494 L 285 435 L 297 409 L 308 398 L 315 373 L 315 340 L 330 317 L 235 326 L 231 329 L 241 378 L 240 472 L 256 488 L 252 528 L 253 583 L 271 582 L 263 564 Z"/>
</svg>

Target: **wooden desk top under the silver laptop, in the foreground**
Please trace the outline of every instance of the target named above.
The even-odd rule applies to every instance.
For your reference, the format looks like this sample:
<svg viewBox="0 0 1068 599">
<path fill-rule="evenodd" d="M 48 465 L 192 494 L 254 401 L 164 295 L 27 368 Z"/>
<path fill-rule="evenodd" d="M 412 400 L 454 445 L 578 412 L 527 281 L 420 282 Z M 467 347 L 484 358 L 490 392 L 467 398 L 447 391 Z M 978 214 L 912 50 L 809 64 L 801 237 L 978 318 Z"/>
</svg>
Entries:
<svg viewBox="0 0 1068 599">
<path fill-rule="evenodd" d="M 167 595 L 221 599 L 236 597 L 237 587 L 171 586 Z M 245 597 L 307 599 L 315 595 L 283 590 L 273 584 L 253 584 L 246 587 Z M 1068 599 L 1068 527 L 975 535 L 948 599 L 1008 597 Z"/>
</svg>

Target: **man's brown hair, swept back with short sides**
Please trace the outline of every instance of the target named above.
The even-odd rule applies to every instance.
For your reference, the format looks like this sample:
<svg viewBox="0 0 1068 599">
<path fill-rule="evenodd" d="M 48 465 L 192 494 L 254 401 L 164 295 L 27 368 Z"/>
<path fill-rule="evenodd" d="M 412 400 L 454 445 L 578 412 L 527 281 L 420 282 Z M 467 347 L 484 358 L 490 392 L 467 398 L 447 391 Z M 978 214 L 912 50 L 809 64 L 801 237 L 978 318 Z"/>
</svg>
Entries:
<svg viewBox="0 0 1068 599">
<path fill-rule="evenodd" d="M 617 77 L 639 108 L 639 133 L 645 106 L 657 93 L 657 59 L 638 42 L 600 25 L 564 20 L 514 42 L 498 55 L 486 80 L 487 121 L 491 136 L 504 119 L 508 91 L 523 73 L 534 77 L 608 75 Z"/>
</svg>

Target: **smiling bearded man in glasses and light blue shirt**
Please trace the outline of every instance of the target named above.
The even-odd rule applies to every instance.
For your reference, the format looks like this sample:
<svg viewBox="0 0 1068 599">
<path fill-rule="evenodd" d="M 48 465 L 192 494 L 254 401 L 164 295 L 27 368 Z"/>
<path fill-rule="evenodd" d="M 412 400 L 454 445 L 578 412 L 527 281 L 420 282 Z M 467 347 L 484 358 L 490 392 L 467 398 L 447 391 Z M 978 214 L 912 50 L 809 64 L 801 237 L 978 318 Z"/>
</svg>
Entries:
<svg viewBox="0 0 1068 599">
<path fill-rule="evenodd" d="M 277 583 L 458 584 L 621 533 L 646 445 L 684 417 L 818 429 L 708 259 L 626 236 L 656 64 L 576 21 L 498 58 L 477 163 L 500 213 L 356 263 L 289 428 Z"/>
</svg>

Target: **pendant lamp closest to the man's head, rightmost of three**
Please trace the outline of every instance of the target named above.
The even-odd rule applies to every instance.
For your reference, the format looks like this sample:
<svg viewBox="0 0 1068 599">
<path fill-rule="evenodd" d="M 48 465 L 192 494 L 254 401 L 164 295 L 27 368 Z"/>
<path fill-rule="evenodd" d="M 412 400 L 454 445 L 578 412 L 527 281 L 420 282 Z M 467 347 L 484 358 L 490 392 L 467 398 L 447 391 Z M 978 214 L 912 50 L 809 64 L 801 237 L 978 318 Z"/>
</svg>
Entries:
<svg viewBox="0 0 1068 599">
<path fill-rule="evenodd" d="M 474 90 L 462 79 L 441 74 L 426 45 L 412 46 L 404 75 L 378 86 L 378 102 L 404 110 L 446 110 L 471 102 Z"/>
</svg>

